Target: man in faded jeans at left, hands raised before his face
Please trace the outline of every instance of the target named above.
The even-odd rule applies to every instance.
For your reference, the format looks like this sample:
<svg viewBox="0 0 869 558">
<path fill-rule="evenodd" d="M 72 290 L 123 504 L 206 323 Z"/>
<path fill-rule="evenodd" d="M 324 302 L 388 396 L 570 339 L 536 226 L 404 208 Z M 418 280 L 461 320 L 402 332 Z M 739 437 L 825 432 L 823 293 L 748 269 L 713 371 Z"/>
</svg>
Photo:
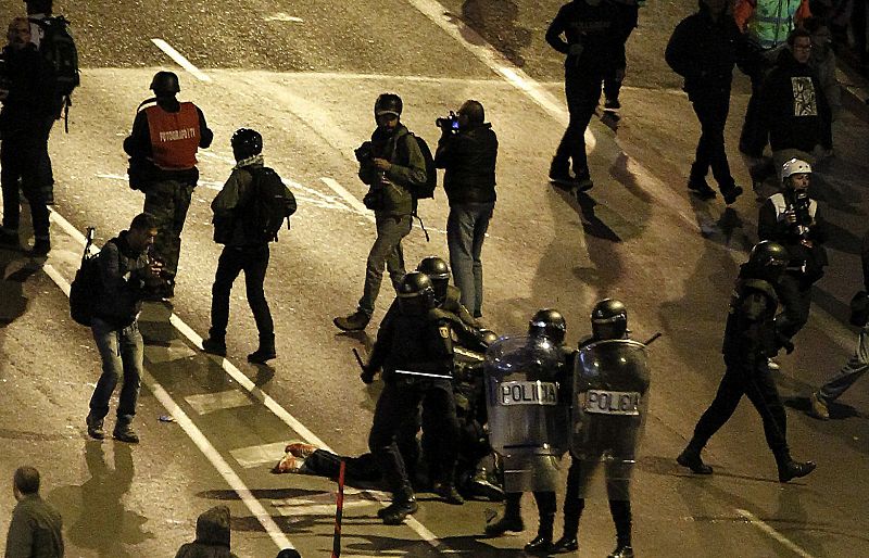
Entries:
<svg viewBox="0 0 869 558">
<path fill-rule="evenodd" d="M 90 413 L 85 419 L 88 434 L 95 440 L 105 437 L 103 420 L 109 414 L 109 400 L 123 376 L 113 436 L 129 444 L 139 443 L 131 426 L 142 373 L 142 335 L 138 317 L 146 293 L 161 281 L 162 266 L 148 255 L 156 234 L 154 217 L 139 214 L 133 219 L 129 230 L 121 231 L 106 242 L 98 256 L 102 293 L 90 329 L 102 358 L 102 375 L 90 397 Z"/>
</svg>

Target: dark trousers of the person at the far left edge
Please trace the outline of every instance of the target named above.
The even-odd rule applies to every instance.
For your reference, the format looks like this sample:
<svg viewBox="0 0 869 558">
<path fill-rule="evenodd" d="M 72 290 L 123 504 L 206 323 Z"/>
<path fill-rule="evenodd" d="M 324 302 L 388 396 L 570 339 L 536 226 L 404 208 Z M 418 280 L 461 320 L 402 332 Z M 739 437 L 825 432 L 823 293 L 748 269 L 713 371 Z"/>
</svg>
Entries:
<svg viewBox="0 0 869 558">
<path fill-rule="evenodd" d="M 21 196 L 18 189 L 30 205 L 34 237 L 49 238 L 47 193 L 54 179 L 48 158 L 48 136 L 21 138 L 17 135 L 0 142 L 0 185 L 3 190 L 3 229 L 16 232 L 21 221 Z"/>
</svg>

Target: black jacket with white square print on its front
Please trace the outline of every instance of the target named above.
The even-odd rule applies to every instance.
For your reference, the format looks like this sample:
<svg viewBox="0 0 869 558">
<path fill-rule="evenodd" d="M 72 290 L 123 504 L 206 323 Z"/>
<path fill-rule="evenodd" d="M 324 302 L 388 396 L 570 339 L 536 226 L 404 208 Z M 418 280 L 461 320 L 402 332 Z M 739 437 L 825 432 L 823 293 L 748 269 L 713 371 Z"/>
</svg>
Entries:
<svg viewBox="0 0 869 558">
<path fill-rule="evenodd" d="M 760 90 L 757 134 L 752 156 L 760 156 L 769 141 L 772 151 L 798 149 L 811 153 L 816 145 L 832 148 L 832 113 L 823 87 L 808 64 L 783 50 Z"/>
</svg>

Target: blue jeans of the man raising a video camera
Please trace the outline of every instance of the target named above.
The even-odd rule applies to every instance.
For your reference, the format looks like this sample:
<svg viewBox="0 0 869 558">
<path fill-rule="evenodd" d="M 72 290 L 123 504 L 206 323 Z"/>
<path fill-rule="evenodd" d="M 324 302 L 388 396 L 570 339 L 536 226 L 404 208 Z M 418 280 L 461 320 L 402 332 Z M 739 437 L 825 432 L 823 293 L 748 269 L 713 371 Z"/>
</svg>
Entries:
<svg viewBox="0 0 869 558">
<path fill-rule="evenodd" d="M 475 318 L 482 316 L 482 262 L 480 253 L 494 211 L 492 203 L 465 203 L 450 206 L 446 244 L 453 280 L 462 291 L 462 305 Z"/>
</svg>

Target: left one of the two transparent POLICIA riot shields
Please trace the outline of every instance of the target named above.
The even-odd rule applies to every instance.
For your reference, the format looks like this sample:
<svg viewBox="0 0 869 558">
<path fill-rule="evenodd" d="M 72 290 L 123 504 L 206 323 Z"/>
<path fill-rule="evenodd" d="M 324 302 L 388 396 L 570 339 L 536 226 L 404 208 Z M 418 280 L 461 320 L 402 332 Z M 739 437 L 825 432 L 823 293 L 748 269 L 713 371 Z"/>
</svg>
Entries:
<svg viewBox="0 0 869 558">
<path fill-rule="evenodd" d="M 507 492 L 552 491 L 569 445 L 570 370 L 543 338 L 502 338 L 486 353 L 489 437 Z"/>
</svg>

